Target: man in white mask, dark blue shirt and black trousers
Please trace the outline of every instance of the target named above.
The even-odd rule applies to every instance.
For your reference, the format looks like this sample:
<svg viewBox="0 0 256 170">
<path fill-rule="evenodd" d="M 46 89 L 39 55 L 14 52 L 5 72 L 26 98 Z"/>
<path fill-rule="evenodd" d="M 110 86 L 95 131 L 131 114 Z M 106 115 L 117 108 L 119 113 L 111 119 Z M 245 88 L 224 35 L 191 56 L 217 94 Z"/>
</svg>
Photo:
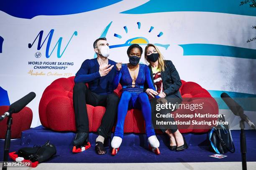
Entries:
<svg viewBox="0 0 256 170">
<path fill-rule="evenodd" d="M 98 38 L 93 43 L 97 58 L 87 59 L 82 63 L 74 78 L 73 103 L 77 134 L 74 139 L 73 152 L 82 152 L 90 147 L 89 120 L 86 104 L 104 106 L 106 111 L 102 117 L 99 136 L 96 138 L 95 150 L 98 154 L 105 154 L 103 146 L 105 138 L 109 138 L 117 115 L 118 96 L 113 93 L 113 77 L 116 62 L 108 59 L 109 47 L 105 37 Z M 88 87 L 85 85 L 88 83 Z"/>
</svg>

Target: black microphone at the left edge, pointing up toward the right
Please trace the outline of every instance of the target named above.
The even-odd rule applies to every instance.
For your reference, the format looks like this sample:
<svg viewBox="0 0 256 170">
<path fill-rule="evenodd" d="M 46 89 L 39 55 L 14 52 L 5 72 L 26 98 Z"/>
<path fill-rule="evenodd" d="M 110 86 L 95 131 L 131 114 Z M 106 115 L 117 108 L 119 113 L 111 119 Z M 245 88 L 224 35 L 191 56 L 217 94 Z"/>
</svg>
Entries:
<svg viewBox="0 0 256 170">
<path fill-rule="evenodd" d="M 11 115 L 12 113 L 18 113 L 21 109 L 23 109 L 29 102 L 31 102 L 36 97 L 36 93 L 30 92 L 26 96 L 22 97 L 20 100 L 14 102 L 10 105 L 9 110 L 5 112 L 1 117 L 0 121 L 4 120 L 6 117 Z"/>
</svg>

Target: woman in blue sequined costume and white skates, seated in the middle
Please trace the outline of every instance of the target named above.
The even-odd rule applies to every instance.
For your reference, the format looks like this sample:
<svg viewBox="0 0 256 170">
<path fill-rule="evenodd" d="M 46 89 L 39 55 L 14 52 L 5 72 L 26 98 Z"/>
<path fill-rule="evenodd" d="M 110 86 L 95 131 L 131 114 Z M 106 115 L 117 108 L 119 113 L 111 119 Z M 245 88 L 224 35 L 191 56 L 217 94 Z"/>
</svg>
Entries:
<svg viewBox="0 0 256 170">
<path fill-rule="evenodd" d="M 151 124 L 151 105 L 146 92 L 143 92 L 144 82 L 146 81 L 151 96 L 159 98 L 155 87 L 151 81 L 150 71 L 147 65 L 139 64 L 142 48 L 138 44 L 131 45 L 127 50 L 129 57 L 128 64 L 117 63 L 116 75 L 113 80 L 114 89 L 120 84 L 123 93 L 118 104 L 118 120 L 115 127 L 115 136 L 111 141 L 113 148 L 112 155 L 115 155 L 122 143 L 123 125 L 128 109 L 140 109 L 146 124 L 146 135 L 150 149 L 159 154 L 159 141 L 156 138 L 154 128 Z"/>
</svg>

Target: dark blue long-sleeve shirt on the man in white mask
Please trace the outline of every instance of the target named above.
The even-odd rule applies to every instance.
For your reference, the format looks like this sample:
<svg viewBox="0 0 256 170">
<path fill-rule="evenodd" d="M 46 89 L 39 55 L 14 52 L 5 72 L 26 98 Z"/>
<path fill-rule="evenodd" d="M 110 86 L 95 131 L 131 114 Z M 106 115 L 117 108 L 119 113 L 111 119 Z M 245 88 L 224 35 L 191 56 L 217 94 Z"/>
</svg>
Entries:
<svg viewBox="0 0 256 170">
<path fill-rule="evenodd" d="M 108 59 L 108 64 L 115 65 L 116 62 Z M 107 95 L 113 93 L 113 78 L 115 75 L 115 68 L 116 67 L 113 67 L 107 75 L 100 77 L 100 65 L 97 58 L 84 60 L 80 69 L 77 71 L 76 76 L 74 77 L 74 82 L 88 83 L 88 88 L 98 95 Z"/>
</svg>

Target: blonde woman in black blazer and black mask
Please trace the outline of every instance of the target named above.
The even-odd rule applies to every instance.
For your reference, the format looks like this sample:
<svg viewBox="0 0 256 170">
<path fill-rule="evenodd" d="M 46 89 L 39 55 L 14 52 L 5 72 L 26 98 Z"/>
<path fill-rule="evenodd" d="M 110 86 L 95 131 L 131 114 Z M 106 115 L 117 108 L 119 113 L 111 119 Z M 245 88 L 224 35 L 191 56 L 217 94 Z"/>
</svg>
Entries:
<svg viewBox="0 0 256 170">
<path fill-rule="evenodd" d="M 172 61 L 164 60 L 159 49 L 153 44 L 148 44 L 145 47 L 145 59 L 149 63 L 148 67 L 151 72 L 151 79 L 156 87 L 156 91 L 147 88 L 146 93 L 152 97 L 158 94 L 161 98 L 157 102 L 181 103 L 182 97 L 179 87 L 181 87 L 182 82 Z M 155 108 L 156 104 L 153 103 L 157 102 L 151 102 L 151 107 Z M 173 118 L 171 119 L 174 121 Z M 177 125 L 171 125 L 170 129 L 161 129 L 161 131 L 166 133 L 170 138 L 170 150 L 184 150 L 188 148 L 186 140 L 179 132 Z"/>
</svg>

